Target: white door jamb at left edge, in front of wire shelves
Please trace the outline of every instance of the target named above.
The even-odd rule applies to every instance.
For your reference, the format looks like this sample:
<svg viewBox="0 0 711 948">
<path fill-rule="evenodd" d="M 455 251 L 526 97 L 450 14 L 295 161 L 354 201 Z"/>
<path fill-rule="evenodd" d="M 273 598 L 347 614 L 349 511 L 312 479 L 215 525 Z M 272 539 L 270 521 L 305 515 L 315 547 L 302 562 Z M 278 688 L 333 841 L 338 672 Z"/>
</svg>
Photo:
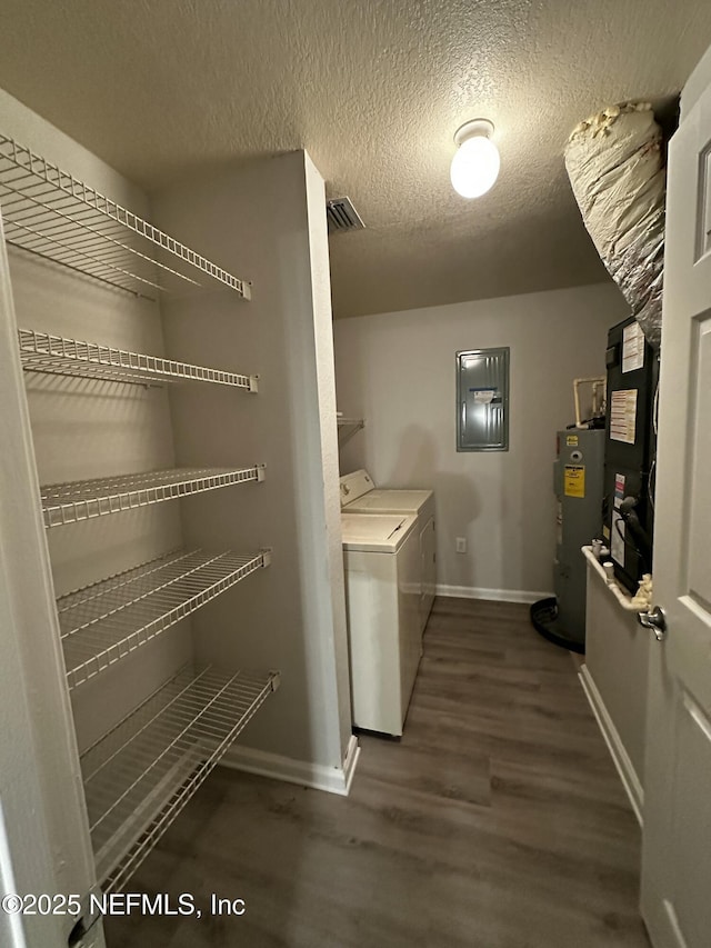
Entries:
<svg viewBox="0 0 711 948">
<path fill-rule="evenodd" d="M 102 946 L 1 222 L 0 406 L 0 945 Z"/>
</svg>

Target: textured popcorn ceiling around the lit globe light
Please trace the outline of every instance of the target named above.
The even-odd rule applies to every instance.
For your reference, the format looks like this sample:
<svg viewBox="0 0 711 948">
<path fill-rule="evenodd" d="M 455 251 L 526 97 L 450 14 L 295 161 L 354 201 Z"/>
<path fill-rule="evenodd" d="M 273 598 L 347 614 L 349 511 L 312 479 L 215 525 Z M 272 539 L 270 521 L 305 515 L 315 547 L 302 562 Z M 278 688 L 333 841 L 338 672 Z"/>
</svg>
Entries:
<svg viewBox="0 0 711 948">
<path fill-rule="evenodd" d="M 711 44 L 708 0 L 2 0 L 0 87 L 147 190 L 307 148 L 367 230 L 331 239 L 334 313 L 595 282 L 571 128 L 668 103 Z M 465 201 L 452 134 L 497 126 Z"/>
</svg>

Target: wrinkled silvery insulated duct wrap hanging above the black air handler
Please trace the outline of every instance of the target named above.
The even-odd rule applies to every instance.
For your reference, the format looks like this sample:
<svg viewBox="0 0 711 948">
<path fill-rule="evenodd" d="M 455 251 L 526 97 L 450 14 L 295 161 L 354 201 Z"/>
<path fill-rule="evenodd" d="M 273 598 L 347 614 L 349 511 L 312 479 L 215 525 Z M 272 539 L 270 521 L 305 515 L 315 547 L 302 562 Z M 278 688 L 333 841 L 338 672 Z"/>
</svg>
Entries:
<svg viewBox="0 0 711 948">
<path fill-rule="evenodd" d="M 612 106 L 573 129 L 565 168 L 583 223 L 644 336 L 659 348 L 665 172 L 651 106 Z"/>
</svg>

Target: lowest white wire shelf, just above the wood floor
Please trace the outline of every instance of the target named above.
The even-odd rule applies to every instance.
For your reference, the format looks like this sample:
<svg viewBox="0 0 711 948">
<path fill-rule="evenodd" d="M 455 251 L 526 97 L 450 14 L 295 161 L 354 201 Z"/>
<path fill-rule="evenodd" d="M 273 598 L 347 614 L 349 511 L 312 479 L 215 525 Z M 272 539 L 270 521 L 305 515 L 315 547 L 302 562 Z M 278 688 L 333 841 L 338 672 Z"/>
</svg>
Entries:
<svg viewBox="0 0 711 948">
<path fill-rule="evenodd" d="M 278 687 L 278 672 L 187 667 L 82 755 L 104 892 L 122 888 Z"/>
</svg>

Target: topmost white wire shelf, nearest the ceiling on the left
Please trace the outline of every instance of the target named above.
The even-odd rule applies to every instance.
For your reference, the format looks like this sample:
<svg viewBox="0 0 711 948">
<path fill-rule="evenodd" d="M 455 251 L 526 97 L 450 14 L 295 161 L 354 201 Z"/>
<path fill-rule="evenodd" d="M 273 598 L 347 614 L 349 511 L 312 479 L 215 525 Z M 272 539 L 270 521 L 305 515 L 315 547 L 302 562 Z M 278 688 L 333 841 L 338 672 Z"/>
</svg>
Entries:
<svg viewBox="0 0 711 948">
<path fill-rule="evenodd" d="M 112 287 L 154 299 L 220 285 L 250 298 L 248 282 L 3 134 L 0 204 L 9 243 Z"/>
</svg>

